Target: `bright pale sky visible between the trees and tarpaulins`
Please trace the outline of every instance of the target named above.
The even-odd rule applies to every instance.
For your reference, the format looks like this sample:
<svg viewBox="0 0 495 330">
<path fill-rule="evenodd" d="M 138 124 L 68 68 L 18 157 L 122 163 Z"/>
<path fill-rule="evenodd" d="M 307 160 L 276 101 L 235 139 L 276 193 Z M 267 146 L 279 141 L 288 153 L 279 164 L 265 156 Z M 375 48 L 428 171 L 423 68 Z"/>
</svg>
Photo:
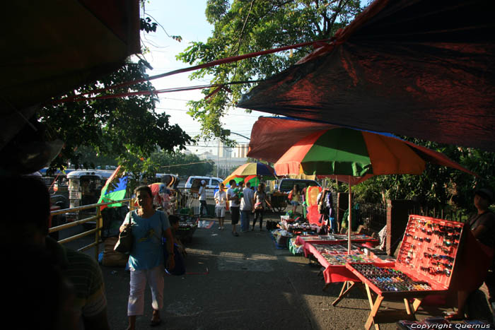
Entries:
<svg viewBox="0 0 495 330">
<path fill-rule="evenodd" d="M 156 33 L 141 33 L 141 43 L 150 49 L 144 58 L 151 64 L 153 70 L 148 70 L 150 76 L 189 67 L 190 64 L 177 61 L 175 56 L 189 45 L 190 42 L 206 42 L 214 29 L 213 25 L 206 22 L 204 9 L 206 0 L 151 0 L 146 3 L 144 11 L 151 16 L 161 26 L 158 26 Z M 165 33 L 165 31 L 166 33 Z M 168 35 L 180 35 L 182 42 L 173 40 Z M 191 72 L 179 73 L 165 78 L 158 78 L 151 81 L 156 89 L 177 88 L 185 86 L 206 85 L 208 78 L 190 81 Z M 171 124 L 179 126 L 190 136 L 199 134 L 200 124 L 186 113 L 188 100 L 200 100 L 204 98 L 201 90 L 192 90 L 176 93 L 162 93 L 158 95 L 160 102 L 157 104 L 157 112 L 170 114 Z M 263 112 L 246 113 L 243 109 L 230 110 L 227 117 L 222 119 L 226 129 L 250 137 L 252 124 L 260 115 L 269 115 Z M 239 143 L 249 143 L 248 139 L 241 136 L 231 135 L 231 139 Z M 217 153 L 216 141 L 199 141 L 199 146 L 190 147 L 193 153 L 203 153 L 211 151 Z"/>
</svg>

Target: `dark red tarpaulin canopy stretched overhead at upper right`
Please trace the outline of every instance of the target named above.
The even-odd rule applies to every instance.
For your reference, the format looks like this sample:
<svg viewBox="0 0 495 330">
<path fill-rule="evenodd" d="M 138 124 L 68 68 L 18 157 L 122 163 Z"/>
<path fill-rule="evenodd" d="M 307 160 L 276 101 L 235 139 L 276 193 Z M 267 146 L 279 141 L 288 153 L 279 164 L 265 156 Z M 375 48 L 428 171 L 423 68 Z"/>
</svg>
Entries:
<svg viewBox="0 0 495 330">
<path fill-rule="evenodd" d="M 238 106 L 495 151 L 491 6 L 375 0 L 334 42 Z"/>
</svg>

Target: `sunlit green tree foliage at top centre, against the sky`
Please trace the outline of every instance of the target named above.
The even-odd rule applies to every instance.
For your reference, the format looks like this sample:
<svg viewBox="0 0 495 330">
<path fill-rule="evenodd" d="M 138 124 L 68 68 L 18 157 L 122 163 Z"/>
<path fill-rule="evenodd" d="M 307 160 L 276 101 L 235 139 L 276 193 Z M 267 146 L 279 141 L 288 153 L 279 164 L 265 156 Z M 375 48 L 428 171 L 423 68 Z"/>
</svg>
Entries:
<svg viewBox="0 0 495 330">
<path fill-rule="evenodd" d="M 189 64 L 258 52 L 273 47 L 324 40 L 361 11 L 359 0 L 208 0 L 206 19 L 214 31 L 206 43 L 192 42 L 177 56 Z M 192 73 L 190 78 L 211 76 L 212 84 L 263 79 L 295 64 L 312 49 L 279 52 L 221 64 Z M 189 103 L 188 112 L 202 123 L 206 137 L 224 137 L 221 117 L 234 107 L 252 83 L 233 84 L 206 100 Z M 204 90 L 208 95 L 214 90 Z"/>
</svg>

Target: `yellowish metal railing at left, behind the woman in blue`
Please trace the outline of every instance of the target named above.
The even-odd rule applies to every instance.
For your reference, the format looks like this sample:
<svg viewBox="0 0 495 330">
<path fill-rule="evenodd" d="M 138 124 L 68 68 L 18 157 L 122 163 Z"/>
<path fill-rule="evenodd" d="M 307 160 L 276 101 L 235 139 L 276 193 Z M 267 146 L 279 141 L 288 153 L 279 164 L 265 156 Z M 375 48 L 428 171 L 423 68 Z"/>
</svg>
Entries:
<svg viewBox="0 0 495 330">
<path fill-rule="evenodd" d="M 78 206 L 76 208 L 64 208 L 63 210 L 57 210 L 57 211 L 52 211 L 51 215 L 52 216 L 59 216 L 62 214 L 66 213 L 79 213 L 80 211 L 86 211 L 89 209 L 96 209 L 95 216 L 90 216 L 88 218 L 83 218 L 81 220 L 74 220 L 69 223 L 64 223 L 63 225 L 57 225 L 55 227 L 52 227 L 48 230 L 48 232 L 59 232 L 60 230 L 68 229 L 68 228 L 73 228 L 76 227 L 77 225 L 83 225 L 84 223 L 88 223 L 90 221 L 95 221 L 95 228 L 91 230 L 87 230 L 85 232 L 81 232 L 77 235 L 71 236 L 64 238 L 63 240 L 59 240 L 59 243 L 66 243 L 66 242 L 72 242 L 74 240 L 78 240 L 81 237 L 86 237 L 91 234 L 95 234 L 95 241 L 91 244 L 86 245 L 85 247 L 81 247 L 78 249 L 79 252 L 86 251 L 87 249 L 91 249 L 92 247 L 95 247 L 95 259 L 98 260 L 98 254 L 100 254 L 99 251 L 99 244 L 102 243 L 100 241 L 101 239 L 101 230 L 103 228 L 103 218 L 101 216 L 100 212 L 100 206 L 105 206 L 105 205 L 110 205 L 110 204 L 117 204 L 117 203 L 123 203 L 129 204 L 129 209 L 133 209 L 133 204 L 132 199 L 122 199 L 120 201 L 111 201 L 108 203 L 100 203 L 100 204 L 89 204 L 89 205 L 84 205 L 84 206 Z"/>
</svg>

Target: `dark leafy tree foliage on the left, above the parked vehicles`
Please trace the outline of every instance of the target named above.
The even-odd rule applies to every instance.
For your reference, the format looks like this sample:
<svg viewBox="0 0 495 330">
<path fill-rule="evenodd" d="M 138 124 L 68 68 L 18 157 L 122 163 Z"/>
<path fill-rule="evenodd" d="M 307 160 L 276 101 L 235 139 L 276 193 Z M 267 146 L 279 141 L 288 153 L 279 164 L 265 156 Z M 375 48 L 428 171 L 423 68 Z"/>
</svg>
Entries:
<svg viewBox="0 0 495 330">
<path fill-rule="evenodd" d="M 129 63 L 66 96 L 144 77 L 146 75 L 140 64 Z M 103 92 L 103 95 L 140 90 L 153 90 L 153 86 L 150 83 L 139 83 L 129 88 L 109 90 Z M 167 151 L 173 151 L 176 146 L 185 148 L 185 144 L 191 141 L 190 136 L 176 124 L 169 124 L 170 116 L 158 114 L 154 109 L 153 98 L 140 95 L 62 102 L 43 107 L 40 122 L 49 128 L 52 136 L 65 142 L 62 153 L 54 160 L 52 167 L 64 167 L 67 161 L 76 168 L 90 167 L 90 164 L 81 163 L 80 146 L 91 146 L 100 155 L 117 155 L 120 163 L 132 158 L 147 158 L 156 151 L 157 146 Z"/>
</svg>

